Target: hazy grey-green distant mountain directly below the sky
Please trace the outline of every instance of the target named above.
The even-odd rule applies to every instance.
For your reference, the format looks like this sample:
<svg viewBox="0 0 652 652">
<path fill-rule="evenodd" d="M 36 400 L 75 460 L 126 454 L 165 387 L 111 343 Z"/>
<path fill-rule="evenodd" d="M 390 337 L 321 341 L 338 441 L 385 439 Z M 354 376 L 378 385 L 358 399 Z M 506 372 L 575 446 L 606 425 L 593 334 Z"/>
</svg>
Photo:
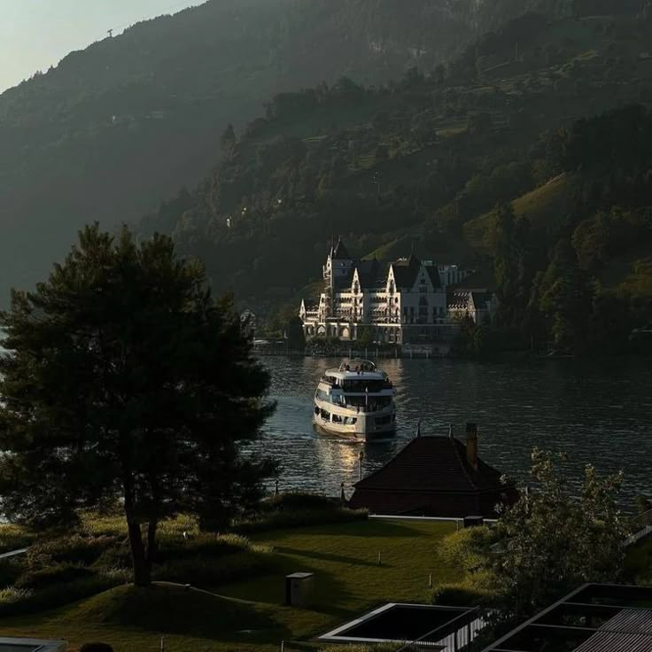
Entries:
<svg viewBox="0 0 652 652">
<path fill-rule="evenodd" d="M 74 52 L 0 96 L 0 297 L 43 276 L 93 220 L 130 221 L 219 155 L 279 91 L 431 71 L 555 0 L 211 0 Z"/>
</svg>

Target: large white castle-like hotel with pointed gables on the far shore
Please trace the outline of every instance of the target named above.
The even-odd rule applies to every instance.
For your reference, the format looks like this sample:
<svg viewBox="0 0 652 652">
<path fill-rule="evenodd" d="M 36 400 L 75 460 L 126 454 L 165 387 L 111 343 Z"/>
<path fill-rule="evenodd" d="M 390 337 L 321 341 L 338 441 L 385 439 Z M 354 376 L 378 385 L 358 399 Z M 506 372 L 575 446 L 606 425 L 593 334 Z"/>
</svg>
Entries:
<svg viewBox="0 0 652 652">
<path fill-rule="evenodd" d="M 493 316 L 491 292 L 462 289 L 469 276 L 456 265 L 436 265 L 414 253 L 389 266 L 353 260 L 340 238 L 323 266 L 319 302 L 304 299 L 299 317 L 306 338 L 356 340 L 370 329 L 375 342 L 446 342 L 462 317 L 482 323 Z"/>
</svg>

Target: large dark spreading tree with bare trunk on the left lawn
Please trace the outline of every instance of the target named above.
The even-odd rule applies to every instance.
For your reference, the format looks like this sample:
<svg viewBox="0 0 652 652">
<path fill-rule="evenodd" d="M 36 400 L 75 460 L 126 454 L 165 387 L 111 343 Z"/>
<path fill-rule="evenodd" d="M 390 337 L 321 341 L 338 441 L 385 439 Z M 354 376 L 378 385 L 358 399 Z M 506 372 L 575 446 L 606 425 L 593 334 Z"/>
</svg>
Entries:
<svg viewBox="0 0 652 652">
<path fill-rule="evenodd" d="M 272 465 L 239 446 L 274 410 L 268 373 L 232 299 L 212 299 L 169 237 L 86 227 L 45 283 L 12 293 L 0 327 L 4 516 L 62 526 L 118 503 L 146 586 L 161 521 L 217 528 L 260 496 Z"/>
</svg>

